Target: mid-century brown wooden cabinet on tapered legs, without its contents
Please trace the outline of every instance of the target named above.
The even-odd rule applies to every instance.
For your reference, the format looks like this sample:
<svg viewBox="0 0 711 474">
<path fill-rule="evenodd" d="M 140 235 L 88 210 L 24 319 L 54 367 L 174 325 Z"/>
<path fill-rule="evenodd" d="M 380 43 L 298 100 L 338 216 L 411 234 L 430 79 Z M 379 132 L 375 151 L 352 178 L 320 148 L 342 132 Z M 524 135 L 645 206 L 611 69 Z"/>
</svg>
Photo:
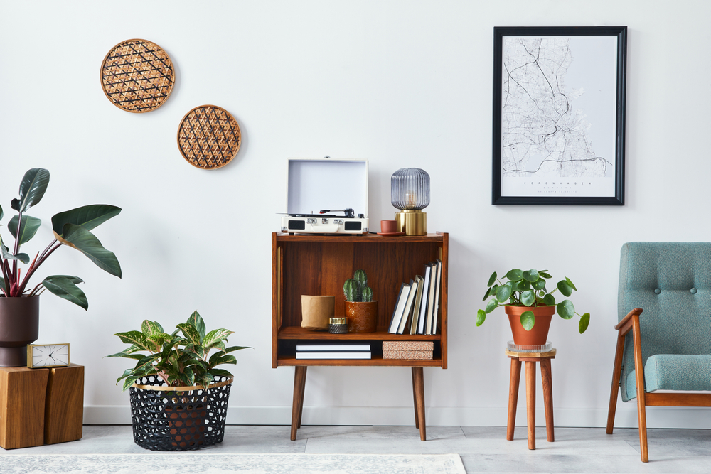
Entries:
<svg viewBox="0 0 711 474">
<path fill-rule="evenodd" d="M 422 275 L 424 264 L 442 260 L 437 334 L 395 335 L 387 332 L 400 284 Z M 294 365 L 292 440 L 301 425 L 306 367 L 309 365 L 378 365 L 412 367 L 415 425 L 425 440 L 422 367 L 447 368 L 447 274 L 449 236 L 288 235 L 272 233 L 272 367 Z M 301 328 L 301 295 L 336 295 L 336 316 L 344 315 L 343 282 L 358 269 L 378 301 L 375 333 L 331 334 Z M 369 360 L 296 360 L 297 343 L 358 341 L 370 343 Z M 432 340 L 432 360 L 383 359 L 384 340 Z"/>
</svg>

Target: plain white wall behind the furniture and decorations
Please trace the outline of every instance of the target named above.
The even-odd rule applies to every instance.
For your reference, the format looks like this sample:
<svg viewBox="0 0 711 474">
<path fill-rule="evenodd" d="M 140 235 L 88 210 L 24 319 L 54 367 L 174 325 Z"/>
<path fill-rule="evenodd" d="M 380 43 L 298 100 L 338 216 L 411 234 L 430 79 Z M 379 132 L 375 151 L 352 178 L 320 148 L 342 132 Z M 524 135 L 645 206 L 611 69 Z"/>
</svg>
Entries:
<svg viewBox="0 0 711 474">
<path fill-rule="evenodd" d="M 255 348 L 237 355 L 228 421 L 288 424 L 294 371 L 270 365 L 269 237 L 286 158 L 368 158 L 371 222 L 394 212 L 392 172 L 415 166 L 432 177 L 429 230 L 449 232 L 449 369 L 425 370 L 428 424 L 506 423 L 510 329 L 501 310 L 481 328 L 474 313 L 491 271 L 545 266 L 569 276 L 577 308 L 592 313 L 584 335 L 560 319 L 550 331 L 556 424 L 603 426 L 621 244 L 709 238 L 710 16 L 705 1 L 661 0 L 2 0 L 4 223 L 36 166 L 52 181 L 26 252 L 50 241 L 55 212 L 123 208 L 95 231 L 123 279 L 56 252 L 38 276 L 81 276 L 90 308 L 42 296 L 38 343 L 69 341 L 85 365 L 85 421 L 129 422 L 127 393 L 114 387 L 127 362 L 102 359 L 124 347 L 112 334 L 144 318 L 172 327 L 198 309 Z M 494 207 L 492 28 L 579 25 L 629 26 L 626 205 Z M 123 112 L 102 92 L 102 59 L 129 38 L 158 43 L 176 67 L 154 112 Z M 200 104 L 225 107 L 242 128 L 237 158 L 218 171 L 194 168 L 176 146 L 179 121 Z M 305 406 L 305 424 L 411 424 L 410 370 L 312 367 Z M 708 410 L 649 412 L 650 426 L 711 421 Z M 634 402 L 618 413 L 636 426 Z"/>
</svg>

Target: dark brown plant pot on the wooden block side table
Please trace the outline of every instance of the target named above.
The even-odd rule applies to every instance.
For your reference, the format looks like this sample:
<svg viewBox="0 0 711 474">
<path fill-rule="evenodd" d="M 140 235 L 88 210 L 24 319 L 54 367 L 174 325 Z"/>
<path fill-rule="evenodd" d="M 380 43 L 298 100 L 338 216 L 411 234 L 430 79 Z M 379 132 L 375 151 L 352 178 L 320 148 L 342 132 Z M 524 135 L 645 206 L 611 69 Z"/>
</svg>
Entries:
<svg viewBox="0 0 711 474">
<path fill-rule="evenodd" d="M 0 297 L 0 367 L 27 365 L 27 345 L 37 340 L 39 296 Z"/>
</svg>

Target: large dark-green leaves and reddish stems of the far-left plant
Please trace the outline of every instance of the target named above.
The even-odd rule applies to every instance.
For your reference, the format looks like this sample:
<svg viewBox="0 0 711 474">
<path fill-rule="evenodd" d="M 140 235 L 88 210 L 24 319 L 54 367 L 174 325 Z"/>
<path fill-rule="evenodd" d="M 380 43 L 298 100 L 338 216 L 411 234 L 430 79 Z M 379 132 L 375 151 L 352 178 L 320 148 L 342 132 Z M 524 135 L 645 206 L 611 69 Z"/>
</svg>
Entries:
<svg viewBox="0 0 711 474">
<path fill-rule="evenodd" d="M 120 208 L 112 205 L 95 204 L 86 205 L 81 208 L 60 212 L 52 217 L 52 230 L 54 239 L 43 250 L 37 252 L 30 263 L 30 257 L 26 253 L 20 252 L 20 247 L 26 244 L 39 229 L 42 221 L 37 217 L 27 215 L 25 212 L 40 202 L 49 184 L 49 171 L 44 168 L 32 168 L 27 171 L 20 183 L 19 196 L 11 201 L 13 210 L 17 211 L 7 227 L 15 243 L 12 251 L 4 244 L 0 235 L 0 266 L 2 276 L 0 277 L 0 291 L 5 297 L 36 296 L 45 289 L 54 293 L 60 298 L 65 298 L 72 303 L 81 306 L 85 310 L 89 308 L 89 303 L 84 292 L 77 286 L 82 283 L 78 276 L 52 275 L 43 279 L 33 288 L 28 284 L 37 271 L 53 252 L 63 245 L 72 247 L 85 254 L 100 269 L 109 274 L 121 278 L 121 266 L 113 252 L 105 249 L 99 239 L 90 232 L 98 225 L 106 222 L 111 217 L 121 212 Z M 0 207 L 0 220 L 3 217 L 3 210 Z M 29 264 L 25 271 L 18 266 L 18 262 Z"/>
</svg>

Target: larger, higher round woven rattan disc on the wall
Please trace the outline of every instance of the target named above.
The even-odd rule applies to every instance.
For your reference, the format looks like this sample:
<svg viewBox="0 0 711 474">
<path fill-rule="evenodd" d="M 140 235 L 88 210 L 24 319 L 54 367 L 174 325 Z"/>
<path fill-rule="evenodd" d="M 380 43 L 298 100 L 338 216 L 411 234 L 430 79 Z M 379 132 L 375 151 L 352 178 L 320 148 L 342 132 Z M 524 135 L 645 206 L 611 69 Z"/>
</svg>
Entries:
<svg viewBox="0 0 711 474">
<path fill-rule="evenodd" d="M 127 112 L 151 112 L 173 91 L 173 63 L 156 43 L 128 40 L 109 51 L 101 64 L 101 85 L 106 97 Z"/>
</svg>

